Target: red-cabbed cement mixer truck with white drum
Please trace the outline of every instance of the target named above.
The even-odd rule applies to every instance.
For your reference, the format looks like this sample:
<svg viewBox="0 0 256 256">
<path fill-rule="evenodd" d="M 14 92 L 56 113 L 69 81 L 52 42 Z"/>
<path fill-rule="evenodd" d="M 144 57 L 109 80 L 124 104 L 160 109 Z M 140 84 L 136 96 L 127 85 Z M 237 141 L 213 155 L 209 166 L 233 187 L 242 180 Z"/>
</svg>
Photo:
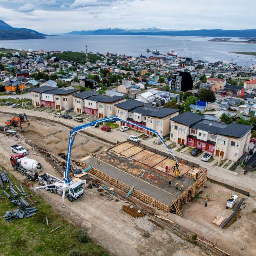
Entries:
<svg viewBox="0 0 256 256">
<path fill-rule="evenodd" d="M 35 181 L 38 178 L 38 173 L 43 171 L 40 163 L 26 157 L 24 154 L 12 155 L 10 160 L 12 167 L 31 181 Z"/>
</svg>

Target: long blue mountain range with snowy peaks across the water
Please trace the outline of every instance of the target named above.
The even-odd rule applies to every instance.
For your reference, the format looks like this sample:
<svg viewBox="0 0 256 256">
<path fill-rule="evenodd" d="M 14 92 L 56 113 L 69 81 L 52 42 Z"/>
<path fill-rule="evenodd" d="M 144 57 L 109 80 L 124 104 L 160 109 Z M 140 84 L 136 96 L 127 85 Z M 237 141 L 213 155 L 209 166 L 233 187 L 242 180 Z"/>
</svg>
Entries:
<svg viewBox="0 0 256 256">
<path fill-rule="evenodd" d="M 256 37 L 256 29 L 246 30 L 164 30 L 159 28 L 123 29 L 105 28 L 97 30 L 72 31 L 64 35 L 139 35 L 139 36 L 194 36 L 194 37 Z"/>
</svg>

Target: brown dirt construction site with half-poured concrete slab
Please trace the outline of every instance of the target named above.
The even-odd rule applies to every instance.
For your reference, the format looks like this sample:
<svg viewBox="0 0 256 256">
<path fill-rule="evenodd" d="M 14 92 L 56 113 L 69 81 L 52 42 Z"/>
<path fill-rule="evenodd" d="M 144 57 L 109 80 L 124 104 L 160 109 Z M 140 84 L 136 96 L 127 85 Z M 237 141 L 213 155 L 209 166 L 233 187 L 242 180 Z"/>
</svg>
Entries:
<svg viewBox="0 0 256 256">
<path fill-rule="evenodd" d="M 8 118 L 1 114 L 0 122 Z M 70 130 L 30 118 L 23 133 L 0 133 L 1 165 L 32 189 L 38 187 L 10 165 L 9 146 L 22 144 L 44 172 L 61 179 Z M 176 175 L 174 166 L 176 161 L 167 151 L 154 152 L 127 141 L 110 144 L 77 133 L 69 177 L 87 181 L 84 196 L 74 202 L 65 199 L 62 208 L 58 194 L 45 190 L 37 194 L 66 219 L 84 226 L 113 255 L 255 255 L 254 195 L 246 197 L 207 181 L 204 167 L 179 162 Z M 238 201 L 227 209 L 232 194 Z"/>
</svg>

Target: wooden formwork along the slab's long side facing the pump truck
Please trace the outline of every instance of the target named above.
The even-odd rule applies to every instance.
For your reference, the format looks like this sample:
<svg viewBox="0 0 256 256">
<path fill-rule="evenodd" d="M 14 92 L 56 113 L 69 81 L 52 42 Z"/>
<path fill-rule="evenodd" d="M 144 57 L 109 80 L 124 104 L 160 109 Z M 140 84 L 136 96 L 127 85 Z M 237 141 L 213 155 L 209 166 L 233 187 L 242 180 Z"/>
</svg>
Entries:
<svg viewBox="0 0 256 256">
<path fill-rule="evenodd" d="M 84 169 L 86 169 L 89 165 L 85 162 L 80 162 L 80 166 L 82 166 Z M 105 174 L 104 172 L 101 172 L 101 171 L 95 169 L 94 167 L 89 169 L 87 172 L 90 172 L 91 174 L 98 177 L 99 179 L 106 181 L 107 183 L 111 184 L 113 187 L 123 190 L 125 193 L 128 193 L 132 188 L 131 186 L 129 186 L 119 180 L 116 180 L 115 178 Z M 146 204 L 150 204 L 151 206 L 153 206 L 163 212 L 170 211 L 170 205 L 164 204 L 164 203 L 156 200 L 155 198 L 153 198 L 135 188 L 132 190 L 130 196 L 136 197 L 138 200 L 140 200 Z"/>
</svg>

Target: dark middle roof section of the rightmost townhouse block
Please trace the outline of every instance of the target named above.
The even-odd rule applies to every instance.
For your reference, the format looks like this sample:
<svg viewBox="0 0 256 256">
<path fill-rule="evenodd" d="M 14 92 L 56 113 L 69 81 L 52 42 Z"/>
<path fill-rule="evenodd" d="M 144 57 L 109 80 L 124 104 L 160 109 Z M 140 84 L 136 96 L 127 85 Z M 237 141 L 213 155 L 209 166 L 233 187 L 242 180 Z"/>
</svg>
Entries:
<svg viewBox="0 0 256 256">
<path fill-rule="evenodd" d="M 202 130 L 209 132 L 211 134 L 217 135 L 220 130 L 228 126 L 228 124 L 218 122 L 218 121 L 212 121 L 212 120 L 206 120 L 203 119 L 197 123 L 195 123 L 193 126 L 190 128 L 195 129 L 195 130 Z"/>
</svg>

